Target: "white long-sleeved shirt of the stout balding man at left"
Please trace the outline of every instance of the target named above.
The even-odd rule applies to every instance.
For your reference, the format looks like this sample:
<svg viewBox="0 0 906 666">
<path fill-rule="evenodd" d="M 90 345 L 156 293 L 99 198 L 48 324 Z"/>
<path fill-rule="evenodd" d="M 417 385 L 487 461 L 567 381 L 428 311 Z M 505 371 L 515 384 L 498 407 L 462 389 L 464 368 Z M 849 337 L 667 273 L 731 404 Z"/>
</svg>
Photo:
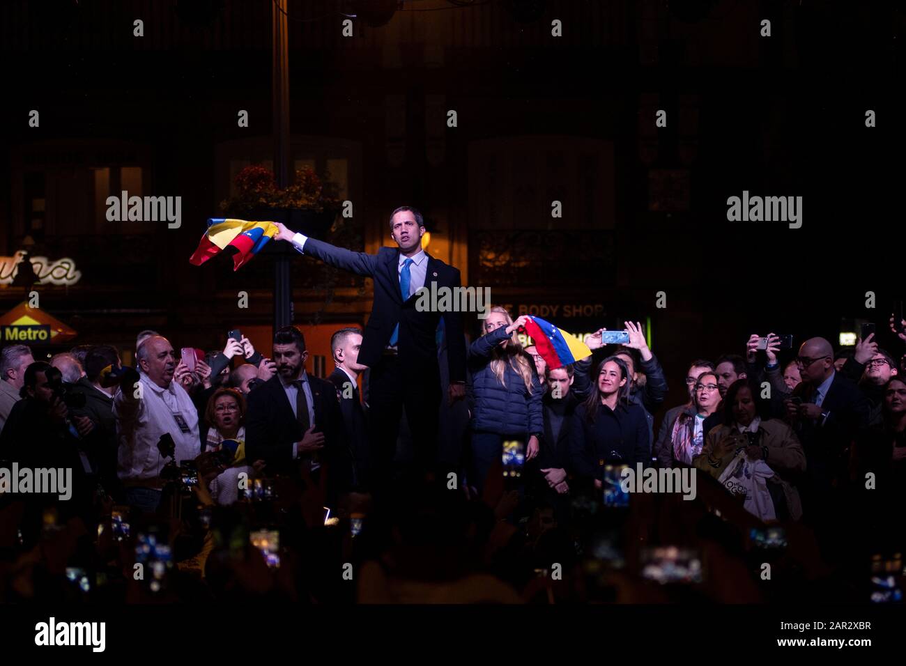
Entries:
<svg viewBox="0 0 906 666">
<path fill-rule="evenodd" d="M 182 460 L 198 458 L 201 452 L 198 411 L 186 390 L 176 381 L 170 381 L 163 389 L 150 381 L 144 372 L 140 372 L 140 382 L 140 399 L 134 397 L 135 391 L 131 388 L 125 393 L 117 389 L 113 397 L 113 416 L 120 445 L 117 476 L 124 480 L 160 476 L 166 458 L 160 455 L 158 441 L 165 432 L 169 432 L 176 444 L 174 459 L 177 465 Z"/>
</svg>

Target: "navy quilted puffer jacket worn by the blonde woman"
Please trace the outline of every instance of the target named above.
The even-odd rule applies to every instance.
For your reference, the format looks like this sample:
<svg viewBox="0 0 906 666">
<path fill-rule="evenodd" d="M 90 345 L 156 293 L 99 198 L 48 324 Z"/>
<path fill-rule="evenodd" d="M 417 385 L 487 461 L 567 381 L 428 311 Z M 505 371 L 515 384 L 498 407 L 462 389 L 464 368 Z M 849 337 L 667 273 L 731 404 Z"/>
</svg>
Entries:
<svg viewBox="0 0 906 666">
<path fill-rule="evenodd" d="M 532 368 L 531 394 L 522 376 L 510 365 L 506 365 L 504 372 L 506 386 L 497 381 L 491 370 L 491 352 L 507 337 L 506 327 L 501 326 L 482 335 L 468 348 L 466 389 L 468 409 L 472 413 L 470 427 L 501 435 L 534 434 L 540 439 L 545 430 L 541 410 L 544 393 L 531 357 L 523 352 Z"/>
</svg>

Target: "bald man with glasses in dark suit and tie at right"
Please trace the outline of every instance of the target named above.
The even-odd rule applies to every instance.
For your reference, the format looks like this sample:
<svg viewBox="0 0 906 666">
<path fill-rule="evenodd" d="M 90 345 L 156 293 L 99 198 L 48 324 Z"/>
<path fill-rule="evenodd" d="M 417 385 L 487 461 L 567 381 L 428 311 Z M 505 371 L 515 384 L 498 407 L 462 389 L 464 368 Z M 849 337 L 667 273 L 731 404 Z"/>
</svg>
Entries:
<svg viewBox="0 0 906 666">
<path fill-rule="evenodd" d="M 806 340 L 796 365 L 802 383 L 786 400 L 786 414 L 805 449 L 804 510 L 830 534 L 842 509 L 850 448 L 868 425 L 869 404 L 853 381 L 834 370 L 834 349 L 824 338 Z"/>
</svg>

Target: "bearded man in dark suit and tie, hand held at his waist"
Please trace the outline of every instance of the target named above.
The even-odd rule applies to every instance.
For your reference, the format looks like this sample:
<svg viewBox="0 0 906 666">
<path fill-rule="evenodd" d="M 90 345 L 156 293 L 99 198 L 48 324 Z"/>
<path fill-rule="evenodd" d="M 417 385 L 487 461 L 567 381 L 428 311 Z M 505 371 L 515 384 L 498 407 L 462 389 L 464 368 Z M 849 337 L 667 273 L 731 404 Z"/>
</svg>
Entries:
<svg viewBox="0 0 906 666">
<path fill-rule="evenodd" d="M 328 482 L 337 488 L 346 472 L 333 384 L 305 372 L 305 338 L 294 326 L 275 333 L 273 358 L 275 376 L 248 394 L 246 459 L 292 476 L 299 464 L 315 470 L 326 462 Z"/>
</svg>

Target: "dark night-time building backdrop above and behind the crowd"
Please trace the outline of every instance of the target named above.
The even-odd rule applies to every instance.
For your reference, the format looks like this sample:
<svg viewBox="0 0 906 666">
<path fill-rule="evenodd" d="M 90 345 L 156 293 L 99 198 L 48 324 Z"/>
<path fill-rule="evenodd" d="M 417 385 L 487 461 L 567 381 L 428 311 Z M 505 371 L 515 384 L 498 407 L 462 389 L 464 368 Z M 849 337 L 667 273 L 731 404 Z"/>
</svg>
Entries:
<svg viewBox="0 0 906 666">
<path fill-rule="evenodd" d="M 231 160 L 270 159 L 273 6 L 0 5 L 0 255 L 30 236 L 33 255 L 75 259 L 77 285 L 40 289 L 79 331 L 72 343 L 129 347 L 154 328 L 174 346 L 222 346 L 234 323 L 270 324 L 268 257 L 234 274 L 225 257 L 188 256 L 219 217 Z M 903 295 L 903 6 L 290 0 L 292 153 L 319 172 L 344 165 L 355 212 L 343 245 L 389 245 L 390 211 L 410 204 L 428 218 L 429 252 L 496 302 L 602 305 L 550 317 L 573 333 L 650 317 L 675 404 L 692 358 L 741 353 L 768 330 L 836 345 Z M 341 12 L 356 14 L 353 37 Z M 136 167 L 143 195 L 183 198 L 182 227 L 106 221 L 96 170 L 116 194 Z M 744 189 L 802 196 L 803 227 L 728 222 Z M 301 258 L 293 270 L 304 329 L 364 322 L 370 281 Z M 0 312 L 28 291 L 0 288 Z M 881 342 L 899 357 L 889 332 Z"/>
</svg>

